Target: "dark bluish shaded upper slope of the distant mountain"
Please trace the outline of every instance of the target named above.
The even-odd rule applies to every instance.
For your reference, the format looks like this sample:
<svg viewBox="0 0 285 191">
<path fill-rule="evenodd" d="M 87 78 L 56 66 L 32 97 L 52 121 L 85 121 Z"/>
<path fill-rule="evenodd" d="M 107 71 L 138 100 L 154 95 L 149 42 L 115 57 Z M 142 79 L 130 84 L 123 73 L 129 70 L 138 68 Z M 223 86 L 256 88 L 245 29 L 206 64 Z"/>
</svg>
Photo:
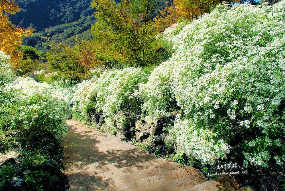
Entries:
<svg viewBox="0 0 285 191">
<path fill-rule="evenodd" d="M 55 25 L 71 23 L 94 13 L 90 7 L 92 0 L 16 0 L 21 11 L 11 15 L 16 26 L 33 27 L 43 31 Z"/>
</svg>

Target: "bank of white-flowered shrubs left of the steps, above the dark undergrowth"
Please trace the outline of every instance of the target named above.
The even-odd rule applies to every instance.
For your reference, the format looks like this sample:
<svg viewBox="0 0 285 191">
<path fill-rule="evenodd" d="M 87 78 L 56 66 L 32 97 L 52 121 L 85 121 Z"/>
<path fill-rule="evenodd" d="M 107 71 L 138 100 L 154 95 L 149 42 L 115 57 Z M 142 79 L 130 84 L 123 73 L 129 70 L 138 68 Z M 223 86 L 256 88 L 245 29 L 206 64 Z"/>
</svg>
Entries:
<svg viewBox="0 0 285 191">
<path fill-rule="evenodd" d="M 26 146 L 42 131 L 62 136 L 67 130 L 67 98 L 50 84 L 13 76 L 9 56 L 3 52 L 0 52 L 0 61 L 1 90 L 9 93 L 6 99 L 1 94 L 0 130 L 17 131 Z"/>
</svg>

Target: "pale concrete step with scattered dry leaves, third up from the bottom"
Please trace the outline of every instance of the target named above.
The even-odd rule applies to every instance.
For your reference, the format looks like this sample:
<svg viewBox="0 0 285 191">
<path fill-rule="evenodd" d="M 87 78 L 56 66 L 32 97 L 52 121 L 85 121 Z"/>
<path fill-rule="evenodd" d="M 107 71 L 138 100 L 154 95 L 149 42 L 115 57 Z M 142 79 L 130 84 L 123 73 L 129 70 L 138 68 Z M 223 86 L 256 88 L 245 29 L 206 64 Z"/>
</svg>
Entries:
<svg viewBox="0 0 285 191">
<path fill-rule="evenodd" d="M 129 184 L 113 187 L 110 188 L 109 191 L 119 191 L 119 190 L 145 191 L 188 176 L 192 176 L 194 182 L 196 181 L 198 173 L 193 170 L 194 170 L 193 167 L 186 166 L 183 168 L 178 168 L 175 170 L 164 172 L 162 174 L 158 174 L 155 176 L 150 176 L 142 180 L 137 180 Z"/>
</svg>

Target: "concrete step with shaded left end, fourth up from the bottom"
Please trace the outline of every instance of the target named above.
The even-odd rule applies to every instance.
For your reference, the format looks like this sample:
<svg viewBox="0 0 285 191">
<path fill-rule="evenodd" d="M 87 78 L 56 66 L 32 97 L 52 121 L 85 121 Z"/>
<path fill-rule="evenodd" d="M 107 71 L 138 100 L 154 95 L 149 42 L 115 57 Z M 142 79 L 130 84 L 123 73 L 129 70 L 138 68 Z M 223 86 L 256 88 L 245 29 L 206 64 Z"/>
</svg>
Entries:
<svg viewBox="0 0 285 191">
<path fill-rule="evenodd" d="M 93 184 L 88 184 L 87 189 L 89 189 L 89 190 L 105 190 L 106 188 L 112 188 L 114 186 L 120 186 L 123 184 L 128 184 L 128 183 L 131 183 L 131 182 L 134 182 L 137 180 L 148 178 L 150 176 L 155 176 L 157 174 L 168 172 L 170 170 L 174 170 L 177 168 L 179 168 L 179 164 L 177 164 L 176 162 L 168 162 L 168 163 L 165 163 L 165 164 L 160 165 L 160 166 L 150 167 L 150 168 L 138 171 L 138 172 L 124 174 L 122 176 L 117 176 L 115 174 L 115 176 L 113 178 L 110 178 L 110 179 L 106 179 L 106 177 L 104 177 L 103 175 L 101 175 L 101 176 L 95 175 L 94 179 L 92 179 L 93 177 L 90 177 L 91 182 Z M 99 180 L 99 182 L 95 182 L 98 180 Z M 108 184 L 108 187 L 104 187 L 106 184 Z"/>
</svg>

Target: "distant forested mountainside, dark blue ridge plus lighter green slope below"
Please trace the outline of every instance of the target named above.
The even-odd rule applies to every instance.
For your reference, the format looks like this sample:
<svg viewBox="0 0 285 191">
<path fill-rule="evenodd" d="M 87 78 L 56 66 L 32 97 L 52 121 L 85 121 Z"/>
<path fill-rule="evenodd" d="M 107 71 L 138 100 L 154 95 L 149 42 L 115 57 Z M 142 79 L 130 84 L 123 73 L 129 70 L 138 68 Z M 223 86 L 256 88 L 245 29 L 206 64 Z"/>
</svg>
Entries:
<svg viewBox="0 0 285 191">
<path fill-rule="evenodd" d="M 89 29 L 96 19 L 92 15 L 95 9 L 90 6 L 90 0 L 15 2 L 19 4 L 21 11 L 11 16 L 12 23 L 15 25 L 21 23 L 21 27 L 35 29 L 33 36 L 23 39 L 24 44 L 28 46 L 46 52 L 50 47 L 42 37 L 50 38 L 53 44 L 63 42 L 69 45 L 74 44 L 76 38 L 83 40 L 93 38 Z M 162 0 L 155 0 L 151 6 L 149 16 L 154 18 L 159 10 L 166 7 L 166 4 Z"/>
</svg>

